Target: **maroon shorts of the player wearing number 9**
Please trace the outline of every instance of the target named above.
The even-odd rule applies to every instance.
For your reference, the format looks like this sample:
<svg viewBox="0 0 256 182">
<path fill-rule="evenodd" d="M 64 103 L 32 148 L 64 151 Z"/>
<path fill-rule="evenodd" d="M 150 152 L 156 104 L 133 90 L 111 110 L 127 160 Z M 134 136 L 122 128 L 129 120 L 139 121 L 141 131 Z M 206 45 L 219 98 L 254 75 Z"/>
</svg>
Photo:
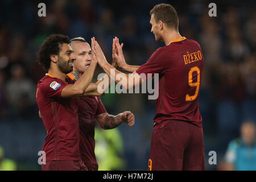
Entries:
<svg viewBox="0 0 256 182">
<path fill-rule="evenodd" d="M 170 121 L 154 129 L 148 170 L 205 170 L 203 127 Z"/>
</svg>

